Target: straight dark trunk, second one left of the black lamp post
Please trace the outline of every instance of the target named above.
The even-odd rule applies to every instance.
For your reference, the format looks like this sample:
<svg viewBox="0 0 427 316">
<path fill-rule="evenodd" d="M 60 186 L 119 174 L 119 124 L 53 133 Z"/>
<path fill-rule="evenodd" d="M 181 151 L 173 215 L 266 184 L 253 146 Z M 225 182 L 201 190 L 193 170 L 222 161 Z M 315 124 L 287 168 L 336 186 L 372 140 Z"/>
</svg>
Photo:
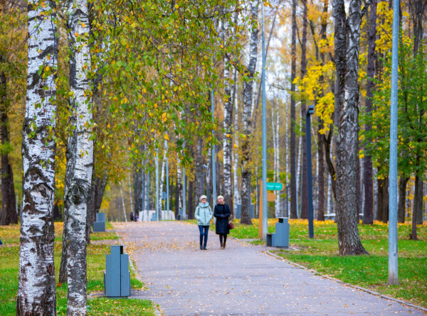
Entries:
<svg viewBox="0 0 427 316">
<path fill-rule="evenodd" d="M 297 0 L 292 0 L 292 38 L 290 44 L 290 218 L 298 218 L 297 214 L 297 165 L 295 157 L 297 148 L 295 141 L 295 75 L 297 72 Z"/>
</svg>

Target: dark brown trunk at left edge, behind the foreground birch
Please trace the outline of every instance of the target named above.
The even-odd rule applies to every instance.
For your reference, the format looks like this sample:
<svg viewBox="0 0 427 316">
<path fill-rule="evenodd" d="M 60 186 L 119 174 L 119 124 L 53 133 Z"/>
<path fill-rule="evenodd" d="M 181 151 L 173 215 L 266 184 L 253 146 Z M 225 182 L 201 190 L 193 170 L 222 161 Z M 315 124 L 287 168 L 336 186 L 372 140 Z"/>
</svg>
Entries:
<svg viewBox="0 0 427 316">
<path fill-rule="evenodd" d="M 6 73 L 0 72 L 0 132 L 1 132 L 1 218 L 0 225 L 17 224 L 14 173 L 9 163 L 9 118 L 7 116 Z"/>
</svg>

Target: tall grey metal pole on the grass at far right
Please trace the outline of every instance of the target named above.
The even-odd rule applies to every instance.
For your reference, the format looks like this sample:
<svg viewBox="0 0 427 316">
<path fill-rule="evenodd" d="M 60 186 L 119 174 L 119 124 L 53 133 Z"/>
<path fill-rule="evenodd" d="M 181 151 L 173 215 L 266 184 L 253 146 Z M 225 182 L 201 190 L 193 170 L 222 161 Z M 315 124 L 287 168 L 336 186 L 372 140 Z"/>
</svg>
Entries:
<svg viewBox="0 0 427 316">
<path fill-rule="evenodd" d="M 391 49 L 391 114 L 389 169 L 389 282 L 399 284 L 397 253 L 397 80 L 399 64 L 399 1 L 393 1 Z"/>
</svg>

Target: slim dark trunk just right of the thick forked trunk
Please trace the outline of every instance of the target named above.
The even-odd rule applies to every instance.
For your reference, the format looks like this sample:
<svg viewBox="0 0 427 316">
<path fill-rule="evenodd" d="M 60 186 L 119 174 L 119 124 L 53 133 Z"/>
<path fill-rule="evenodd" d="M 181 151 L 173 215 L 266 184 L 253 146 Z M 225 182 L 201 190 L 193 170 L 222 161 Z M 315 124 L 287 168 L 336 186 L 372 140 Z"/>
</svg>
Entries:
<svg viewBox="0 0 427 316">
<path fill-rule="evenodd" d="M 369 37 L 368 37 L 368 80 L 367 80 L 367 99 L 366 99 L 366 114 L 371 116 L 372 111 L 372 97 L 375 87 L 375 39 L 376 39 L 376 1 L 371 0 L 371 8 L 369 15 Z M 365 124 L 365 131 L 369 134 L 371 131 L 371 124 Z M 367 138 L 367 143 L 371 140 Z M 372 158 L 365 155 L 363 158 L 363 172 L 364 172 L 364 211 L 363 211 L 363 224 L 374 224 L 374 189 L 372 184 Z"/>
</svg>

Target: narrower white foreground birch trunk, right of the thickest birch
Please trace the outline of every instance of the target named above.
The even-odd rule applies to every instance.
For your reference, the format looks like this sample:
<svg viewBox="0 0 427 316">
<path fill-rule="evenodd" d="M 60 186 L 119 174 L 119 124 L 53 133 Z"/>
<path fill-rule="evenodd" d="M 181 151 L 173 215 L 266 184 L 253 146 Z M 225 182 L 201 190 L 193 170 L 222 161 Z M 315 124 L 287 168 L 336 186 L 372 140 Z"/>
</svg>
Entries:
<svg viewBox="0 0 427 316">
<path fill-rule="evenodd" d="M 64 213 L 67 217 L 68 301 L 67 315 L 87 315 L 86 278 L 86 215 L 90 201 L 93 169 L 93 141 L 90 139 L 92 111 L 90 105 L 90 51 L 87 0 L 68 1 L 68 40 L 70 45 L 70 109 L 74 112 L 72 134 L 67 151 L 73 160 L 67 162 L 70 185 L 64 192 Z"/>
</svg>

